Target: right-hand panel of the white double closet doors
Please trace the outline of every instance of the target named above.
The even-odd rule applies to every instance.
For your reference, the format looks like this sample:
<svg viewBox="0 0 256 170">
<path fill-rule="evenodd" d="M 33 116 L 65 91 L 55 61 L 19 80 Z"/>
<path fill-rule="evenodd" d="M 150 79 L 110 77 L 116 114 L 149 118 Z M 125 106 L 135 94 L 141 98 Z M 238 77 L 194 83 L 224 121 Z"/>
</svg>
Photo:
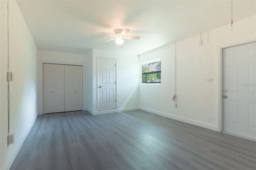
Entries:
<svg viewBox="0 0 256 170">
<path fill-rule="evenodd" d="M 83 67 L 65 65 L 65 112 L 83 110 Z"/>
</svg>

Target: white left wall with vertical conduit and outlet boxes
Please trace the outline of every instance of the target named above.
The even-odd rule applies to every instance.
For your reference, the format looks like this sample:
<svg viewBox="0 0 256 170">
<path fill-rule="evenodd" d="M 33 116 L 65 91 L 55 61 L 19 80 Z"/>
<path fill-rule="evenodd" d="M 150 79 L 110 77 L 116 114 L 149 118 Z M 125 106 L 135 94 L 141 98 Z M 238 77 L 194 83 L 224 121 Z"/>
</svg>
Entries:
<svg viewBox="0 0 256 170">
<path fill-rule="evenodd" d="M 14 144 L 7 144 L 7 1 L 0 1 L 1 16 L 1 112 L 0 169 L 10 168 L 37 117 L 37 47 L 16 1 L 9 1 L 9 58 L 14 81 L 10 82 L 10 134 Z"/>
</svg>

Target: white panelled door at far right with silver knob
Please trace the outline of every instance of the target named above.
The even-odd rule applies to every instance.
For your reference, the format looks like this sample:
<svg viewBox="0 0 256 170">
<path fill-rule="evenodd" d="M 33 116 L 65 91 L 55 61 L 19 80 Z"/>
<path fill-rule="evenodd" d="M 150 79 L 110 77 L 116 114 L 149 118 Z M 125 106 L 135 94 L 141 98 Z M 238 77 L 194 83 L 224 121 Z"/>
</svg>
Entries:
<svg viewBox="0 0 256 170">
<path fill-rule="evenodd" d="M 223 130 L 256 140 L 256 42 L 223 49 Z"/>
</svg>

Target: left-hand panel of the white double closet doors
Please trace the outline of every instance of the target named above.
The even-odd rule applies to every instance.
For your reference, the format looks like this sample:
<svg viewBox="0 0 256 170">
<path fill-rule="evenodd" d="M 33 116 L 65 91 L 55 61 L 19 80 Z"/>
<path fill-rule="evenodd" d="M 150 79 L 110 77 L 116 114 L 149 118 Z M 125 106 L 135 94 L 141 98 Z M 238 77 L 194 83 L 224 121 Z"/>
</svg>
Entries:
<svg viewBox="0 0 256 170">
<path fill-rule="evenodd" d="M 64 112 L 64 65 L 43 64 L 43 113 Z"/>
</svg>

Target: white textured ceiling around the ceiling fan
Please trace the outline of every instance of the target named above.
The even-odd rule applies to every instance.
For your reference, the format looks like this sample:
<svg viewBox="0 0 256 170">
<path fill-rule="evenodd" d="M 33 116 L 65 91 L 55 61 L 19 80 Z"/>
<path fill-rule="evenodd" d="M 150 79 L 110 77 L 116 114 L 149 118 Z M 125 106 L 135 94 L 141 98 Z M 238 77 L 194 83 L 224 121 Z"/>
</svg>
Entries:
<svg viewBox="0 0 256 170">
<path fill-rule="evenodd" d="M 231 0 L 88 1 L 18 0 L 20 11 L 39 49 L 85 54 L 90 49 L 146 51 L 206 32 L 231 21 Z M 11 9 L 10 9 L 11 10 Z M 256 14 L 255 0 L 234 0 L 233 20 Z M 255 21 L 254 21 L 255 22 Z M 116 49 L 115 29 L 128 28 Z"/>
</svg>

